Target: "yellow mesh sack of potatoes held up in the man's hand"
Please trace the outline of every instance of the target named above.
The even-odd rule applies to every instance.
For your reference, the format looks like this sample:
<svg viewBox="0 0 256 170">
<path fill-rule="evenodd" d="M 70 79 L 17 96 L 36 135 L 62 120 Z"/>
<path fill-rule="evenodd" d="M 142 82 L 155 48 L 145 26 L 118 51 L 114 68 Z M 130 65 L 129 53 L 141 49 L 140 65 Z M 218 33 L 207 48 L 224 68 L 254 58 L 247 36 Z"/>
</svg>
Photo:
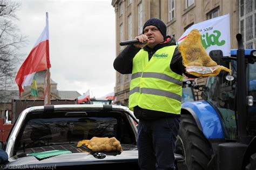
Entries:
<svg viewBox="0 0 256 170">
<path fill-rule="evenodd" d="M 230 69 L 217 65 L 217 63 L 207 55 L 197 29 L 193 29 L 188 33 L 187 37 L 180 43 L 179 51 L 187 72 L 194 76 L 217 76 L 221 70 L 231 72 Z"/>
</svg>

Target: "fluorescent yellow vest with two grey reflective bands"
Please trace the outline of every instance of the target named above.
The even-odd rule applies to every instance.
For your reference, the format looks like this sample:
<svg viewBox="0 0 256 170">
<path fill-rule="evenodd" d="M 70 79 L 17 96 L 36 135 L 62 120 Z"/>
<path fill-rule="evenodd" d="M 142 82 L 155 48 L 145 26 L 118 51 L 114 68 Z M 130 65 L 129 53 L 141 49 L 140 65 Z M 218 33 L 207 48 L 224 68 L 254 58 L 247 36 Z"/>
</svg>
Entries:
<svg viewBox="0 0 256 170">
<path fill-rule="evenodd" d="M 165 46 L 149 61 L 147 51 L 140 50 L 133 58 L 129 108 L 180 114 L 183 76 L 170 69 L 176 45 Z"/>
</svg>

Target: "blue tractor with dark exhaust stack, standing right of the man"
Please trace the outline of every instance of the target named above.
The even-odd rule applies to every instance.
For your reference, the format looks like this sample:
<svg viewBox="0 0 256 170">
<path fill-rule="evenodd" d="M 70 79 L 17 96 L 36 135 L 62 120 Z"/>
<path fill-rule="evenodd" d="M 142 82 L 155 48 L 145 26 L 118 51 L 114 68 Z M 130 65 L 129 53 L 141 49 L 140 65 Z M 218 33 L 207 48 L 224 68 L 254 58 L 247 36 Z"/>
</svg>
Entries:
<svg viewBox="0 0 256 170">
<path fill-rule="evenodd" d="M 238 49 L 231 57 L 214 50 L 210 56 L 232 72 L 208 77 L 203 100 L 182 104 L 176 153 L 183 155 L 179 169 L 256 169 L 256 50 Z"/>
</svg>

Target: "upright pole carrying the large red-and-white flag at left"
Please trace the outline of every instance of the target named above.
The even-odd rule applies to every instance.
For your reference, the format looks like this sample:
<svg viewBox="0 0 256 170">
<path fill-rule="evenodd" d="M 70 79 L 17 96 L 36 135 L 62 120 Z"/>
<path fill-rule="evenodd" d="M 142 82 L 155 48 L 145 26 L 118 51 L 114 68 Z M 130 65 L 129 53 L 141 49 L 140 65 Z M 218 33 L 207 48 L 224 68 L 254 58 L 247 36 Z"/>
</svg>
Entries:
<svg viewBox="0 0 256 170">
<path fill-rule="evenodd" d="M 49 25 L 48 25 L 48 12 L 46 12 L 46 35 L 49 37 Z M 49 43 L 46 43 L 46 49 L 49 49 Z M 49 51 L 48 51 L 49 52 Z M 44 105 L 51 105 L 51 82 L 50 82 L 50 68 L 46 70 L 45 81 L 44 81 Z"/>
</svg>

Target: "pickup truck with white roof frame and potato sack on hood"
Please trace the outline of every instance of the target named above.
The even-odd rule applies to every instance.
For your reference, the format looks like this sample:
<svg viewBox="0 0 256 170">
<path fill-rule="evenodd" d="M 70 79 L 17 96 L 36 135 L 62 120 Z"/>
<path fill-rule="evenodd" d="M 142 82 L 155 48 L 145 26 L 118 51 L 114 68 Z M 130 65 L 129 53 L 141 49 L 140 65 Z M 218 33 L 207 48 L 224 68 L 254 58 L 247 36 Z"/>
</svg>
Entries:
<svg viewBox="0 0 256 170">
<path fill-rule="evenodd" d="M 1 142 L 8 154 L 2 169 L 139 169 L 138 120 L 119 105 L 50 105 L 26 108 L 8 139 Z M 92 152 L 79 141 L 116 138 L 120 151 Z M 185 160 L 176 154 L 177 169 Z"/>
</svg>

